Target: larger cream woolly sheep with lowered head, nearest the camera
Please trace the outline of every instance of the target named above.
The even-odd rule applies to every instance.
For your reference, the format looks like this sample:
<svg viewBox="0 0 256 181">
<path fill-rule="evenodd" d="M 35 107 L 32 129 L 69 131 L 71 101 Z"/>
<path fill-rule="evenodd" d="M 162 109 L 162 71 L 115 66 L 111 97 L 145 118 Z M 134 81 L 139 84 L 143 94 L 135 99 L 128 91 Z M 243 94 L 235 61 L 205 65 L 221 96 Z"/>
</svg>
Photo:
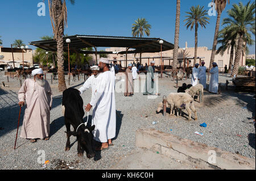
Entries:
<svg viewBox="0 0 256 181">
<path fill-rule="evenodd" d="M 196 114 L 196 108 L 193 104 L 193 99 L 191 95 L 183 92 L 179 93 L 170 93 L 167 96 L 167 106 L 170 107 L 170 115 L 172 115 L 172 111 L 174 108 L 177 109 L 185 109 L 188 111 L 188 121 L 191 121 L 191 110 L 195 114 L 195 120 L 197 120 L 197 114 Z M 163 103 L 158 104 L 158 109 L 157 111 L 159 112 L 160 110 L 163 109 Z M 179 111 L 177 111 L 177 116 L 179 116 Z"/>
</svg>

